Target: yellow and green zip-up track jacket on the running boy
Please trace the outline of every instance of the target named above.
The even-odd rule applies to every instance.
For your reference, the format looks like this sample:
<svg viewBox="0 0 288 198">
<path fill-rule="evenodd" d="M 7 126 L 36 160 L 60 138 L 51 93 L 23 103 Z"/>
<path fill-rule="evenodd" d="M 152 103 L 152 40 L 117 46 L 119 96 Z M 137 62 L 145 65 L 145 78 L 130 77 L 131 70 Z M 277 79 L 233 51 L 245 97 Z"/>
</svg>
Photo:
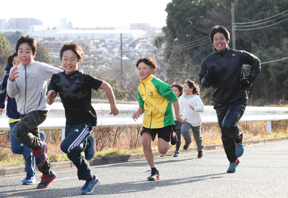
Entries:
<svg viewBox="0 0 288 198">
<path fill-rule="evenodd" d="M 141 79 L 138 86 L 139 107 L 145 110 L 142 125 L 156 129 L 175 125 L 172 102 L 178 100 L 170 85 L 153 74 Z"/>
</svg>

